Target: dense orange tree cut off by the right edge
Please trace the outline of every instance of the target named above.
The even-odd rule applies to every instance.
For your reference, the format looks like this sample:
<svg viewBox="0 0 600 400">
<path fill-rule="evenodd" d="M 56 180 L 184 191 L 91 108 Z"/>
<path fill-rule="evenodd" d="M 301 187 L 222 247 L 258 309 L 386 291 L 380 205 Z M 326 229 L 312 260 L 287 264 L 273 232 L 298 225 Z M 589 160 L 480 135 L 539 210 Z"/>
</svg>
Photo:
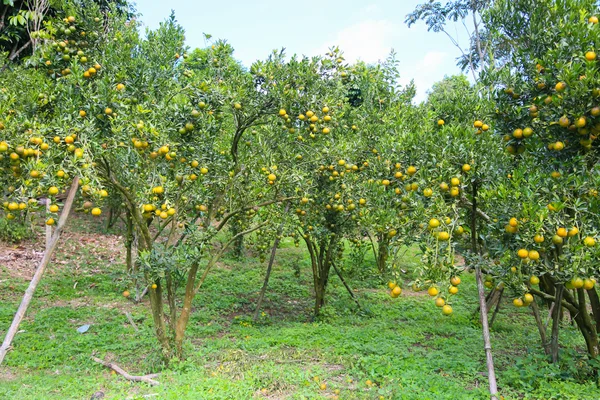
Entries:
<svg viewBox="0 0 600 400">
<path fill-rule="evenodd" d="M 494 33 L 512 45 L 487 80 L 497 87 L 496 131 L 514 168 L 497 191 L 506 234 L 494 272 L 511 283 L 515 305 L 532 301 L 527 292 L 557 304 L 554 360 L 561 306 L 598 356 L 598 11 L 593 1 L 502 1 L 490 11 Z"/>
</svg>

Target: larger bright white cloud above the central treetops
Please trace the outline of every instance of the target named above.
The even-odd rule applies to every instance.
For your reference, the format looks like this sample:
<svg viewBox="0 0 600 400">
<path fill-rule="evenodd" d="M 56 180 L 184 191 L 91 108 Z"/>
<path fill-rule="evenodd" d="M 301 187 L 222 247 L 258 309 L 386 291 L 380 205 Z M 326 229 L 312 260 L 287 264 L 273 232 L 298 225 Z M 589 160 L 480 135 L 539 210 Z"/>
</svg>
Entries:
<svg viewBox="0 0 600 400">
<path fill-rule="evenodd" d="M 316 53 L 323 54 L 330 47 L 339 46 L 350 63 L 357 60 L 375 63 L 388 56 L 399 34 L 400 27 L 390 21 L 368 19 L 342 29 Z"/>
</svg>

